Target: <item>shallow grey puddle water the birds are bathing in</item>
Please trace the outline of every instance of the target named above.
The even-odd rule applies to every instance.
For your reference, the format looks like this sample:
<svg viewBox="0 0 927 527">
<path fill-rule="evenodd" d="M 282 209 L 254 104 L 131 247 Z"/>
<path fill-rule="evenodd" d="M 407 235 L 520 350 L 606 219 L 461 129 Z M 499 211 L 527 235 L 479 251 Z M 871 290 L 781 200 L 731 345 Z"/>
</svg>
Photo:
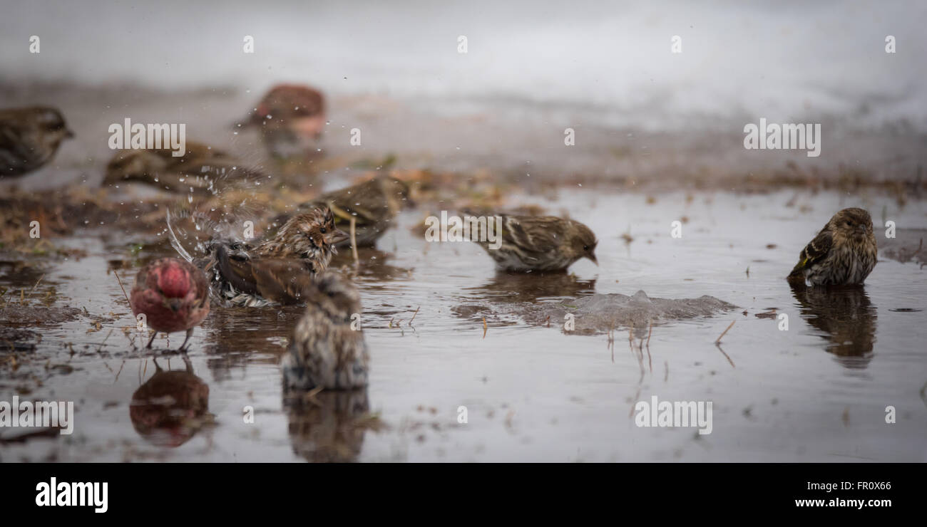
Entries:
<svg viewBox="0 0 927 527">
<path fill-rule="evenodd" d="M 27 292 L 44 272 L 36 297 L 53 286 L 55 306 L 87 314 L 39 329 L 37 349 L 19 353 L 15 373 L 6 365 L 0 377 L 3 400 L 28 392 L 22 396 L 75 401 L 74 433 L 6 442 L 0 458 L 927 460 L 925 271 L 883 259 L 864 290 L 833 295 L 795 294 L 783 280 L 840 207 L 869 208 L 877 226 L 888 219 L 923 228 L 927 205 L 899 210 L 880 196 L 792 191 L 661 194 L 648 203 L 641 194 L 577 188 L 554 198 L 523 200 L 554 213 L 566 208 L 588 223 L 601 240 L 599 267 L 583 260 L 571 275 L 497 274 L 476 245 L 426 244 L 413 233 L 421 212 L 403 213 L 377 250 L 362 251 L 368 263 L 350 271 L 372 353 L 367 393 L 323 393 L 302 404 L 283 400 L 277 368 L 298 308 L 216 307 L 188 358 L 133 348 L 132 339 L 137 345 L 144 336 L 122 331 L 134 320 L 108 270 L 170 254 L 164 245 L 133 257 L 125 245 L 131 236 L 97 230 L 66 242 L 87 251 L 79 261 L 29 273 L 2 268 L 0 284 Z M 673 220 L 684 221 L 681 238 L 670 236 Z M 118 272 L 132 282 L 133 269 Z M 639 290 L 713 295 L 738 308 L 660 323 L 649 337 L 638 328 L 633 344 L 628 328 L 610 342 L 493 309 Z M 485 329 L 482 315 L 473 315 L 484 307 Z M 787 331 L 777 319 L 756 317 L 772 309 L 788 315 Z M 181 338 L 156 342 L 176 347 Z M 652 395 L 712 401 L 712 433 L 637 427 L 634 403 Z M 888 406 L 894 424 L 885 422 Z M 250 409 L 253 423 L 243 418 Z"/>
</svg>

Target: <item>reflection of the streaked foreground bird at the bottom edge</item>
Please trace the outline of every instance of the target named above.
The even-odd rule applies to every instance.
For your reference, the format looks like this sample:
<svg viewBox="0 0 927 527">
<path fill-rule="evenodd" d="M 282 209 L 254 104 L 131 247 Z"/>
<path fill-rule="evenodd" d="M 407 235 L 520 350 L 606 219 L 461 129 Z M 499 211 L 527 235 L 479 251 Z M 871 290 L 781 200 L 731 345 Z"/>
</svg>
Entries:
<svg viewBox="0 0 927 527">
<path fill-rule="evenodd" d="M 284 408 L 293 452 L 311 462 L 356 461 L 364 433 L 383 427 L 369 413 L 366 389 L 289 391 Z"/>
</svg>

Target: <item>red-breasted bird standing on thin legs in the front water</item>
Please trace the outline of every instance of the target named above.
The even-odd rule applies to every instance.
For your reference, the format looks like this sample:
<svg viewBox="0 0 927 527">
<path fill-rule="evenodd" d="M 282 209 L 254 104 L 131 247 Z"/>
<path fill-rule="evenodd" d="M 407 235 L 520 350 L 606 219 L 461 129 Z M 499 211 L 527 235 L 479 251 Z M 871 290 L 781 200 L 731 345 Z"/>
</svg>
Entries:
<svg viewBox="0 0 927 527">
<path fill-rule="evenodd" d="M 129 301 L 133 315 L 154 330 L 147 348 L 158 333 L 186 332 L 184 350 L 193 329 L 210 314 L 209 284 L 202 270 L 178 258 L 164 257 L 138 271 Z"/>
</svg>

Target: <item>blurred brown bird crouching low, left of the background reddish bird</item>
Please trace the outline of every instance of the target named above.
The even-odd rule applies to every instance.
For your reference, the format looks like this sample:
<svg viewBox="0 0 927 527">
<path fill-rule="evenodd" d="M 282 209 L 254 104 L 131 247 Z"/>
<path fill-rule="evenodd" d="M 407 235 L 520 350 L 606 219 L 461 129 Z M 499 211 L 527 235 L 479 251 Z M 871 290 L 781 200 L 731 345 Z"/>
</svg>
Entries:
<svg viewBox="0 0 927 527">
<path fill-rule="evenodd" d="M 186 142 L 184 156 L 170 148 L 122 150 L 107 165 L 103 185 L 140 182 L 173 193 L 216 194 L 217 183 L 266 179 L 261 169 L 209 144 Z"/>
</svg>

